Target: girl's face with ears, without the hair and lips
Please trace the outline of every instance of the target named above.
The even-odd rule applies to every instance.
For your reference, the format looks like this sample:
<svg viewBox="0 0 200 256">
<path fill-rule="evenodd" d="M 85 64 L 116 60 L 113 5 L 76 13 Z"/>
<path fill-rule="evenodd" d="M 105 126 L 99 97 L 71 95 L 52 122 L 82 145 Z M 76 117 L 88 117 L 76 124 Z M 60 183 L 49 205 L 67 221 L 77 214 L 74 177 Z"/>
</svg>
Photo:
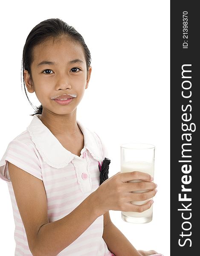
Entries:
<svg viewBox="0 0 200 256">
<path fill-rule="evenodd" d="M 87 76 L 83 49 L 67 38 L 48 40 L 33 48 L 34 61 L 31 64 L 33 84 L 29 73 L 24 70 L 24 81 L 29 93 L 35 94 L 43 106 L 43 111 L 56 114 L 72 113 L 81 101 L 88 87 L 92 67 Z M 70 61 L 79 59 L 79 62 Z M 40 64 L 43 61 L 54 62 Z M 69 105 L 60 105 L 52 97 L 61 94 L 76 94 Z"/>
</svg>

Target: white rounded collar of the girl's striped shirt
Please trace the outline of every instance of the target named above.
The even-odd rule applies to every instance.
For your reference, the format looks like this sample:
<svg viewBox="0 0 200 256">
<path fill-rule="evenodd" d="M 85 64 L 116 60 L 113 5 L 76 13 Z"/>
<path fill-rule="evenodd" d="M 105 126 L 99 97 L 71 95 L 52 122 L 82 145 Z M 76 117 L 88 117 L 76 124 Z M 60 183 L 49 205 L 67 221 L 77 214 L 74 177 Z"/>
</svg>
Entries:
<svg viewBox="0 0 200 256">
<path fill-rule="evenodd" d="M 33 116 L 27 130 L 43 160 L 55 168 L 67 166 L 74 157 L 80 160 L 81 157 L 72 154 L 72 152 L 63 147 L 59 140 L 40 120 L 40 116 L 41 114 L 35 114 Z M 84 127 L 78 120 L 77 124 L 84 135 L 84 148 L 81 150 L 81 154 L 87 148 L 96 160 L 102 160 L 101 146 L 95 132 Z"/>
</svg>

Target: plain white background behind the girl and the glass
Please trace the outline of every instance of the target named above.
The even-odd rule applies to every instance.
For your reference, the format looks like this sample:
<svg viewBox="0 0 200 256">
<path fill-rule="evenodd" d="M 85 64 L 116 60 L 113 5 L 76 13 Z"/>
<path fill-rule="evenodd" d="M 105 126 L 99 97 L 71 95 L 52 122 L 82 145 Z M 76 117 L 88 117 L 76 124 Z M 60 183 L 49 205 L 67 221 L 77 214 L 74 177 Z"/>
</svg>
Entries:
<svg viewBox="0 0 200 256">
<path fill-rule="evenodd" d="M 31 29 L 61 18 L 84 37 L 93 68 L 77 119 L 96 131 L 120 171 L 120 144 L 156 145 L 153 221 L 131 224 L 110 210 L 116 227 L 136 249 L 170 255 L 169 1 L 13 1 L 1 6 L 0 158 L 34 113 L 21 90 L 23 46 Z M 40 105 L 28 93 L 33 105 Z M 14 219 L 8 187 L 0 180 L 0 255 L 14 256 Z"/>
</svg>

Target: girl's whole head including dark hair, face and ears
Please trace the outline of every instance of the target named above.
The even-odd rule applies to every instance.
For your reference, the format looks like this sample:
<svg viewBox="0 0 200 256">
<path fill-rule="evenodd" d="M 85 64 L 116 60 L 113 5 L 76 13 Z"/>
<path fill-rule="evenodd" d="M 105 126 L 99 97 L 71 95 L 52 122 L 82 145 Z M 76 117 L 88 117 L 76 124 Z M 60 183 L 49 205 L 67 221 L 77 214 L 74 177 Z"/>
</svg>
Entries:
<svg viewBox="0 0 200 256">
<path fill-rule="evenodd" d="M 31 116 L 44 110 L 67 114 L 76 109 L 88 87 L 92 67 L 90 51 L 74 27 L 58 18 L 42 21 L 29 33 L 22 61 L 27 90 L 35 92 L 41 102 Z M 76 95 L 70 105 L 51 99 L 65 93 Z"/>
</svg>

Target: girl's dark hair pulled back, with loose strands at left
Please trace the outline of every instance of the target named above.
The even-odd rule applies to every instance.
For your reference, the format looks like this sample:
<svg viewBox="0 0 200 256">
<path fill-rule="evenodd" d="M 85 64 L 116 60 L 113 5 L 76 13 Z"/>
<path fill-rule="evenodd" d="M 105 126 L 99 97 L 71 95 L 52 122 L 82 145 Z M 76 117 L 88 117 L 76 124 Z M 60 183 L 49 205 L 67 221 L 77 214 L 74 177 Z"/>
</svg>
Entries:
<svg viewBox="0 0 200 256">
<path fill-rule="evenodd" d="M 65 35 L 68 38 L 70 38 L 70 40 L 82 46 L 85 60 L 86 60 L 87 72 L 88 72 L 89 66 L 91 63 L 91 55 L 90 55 L 89 49 L 87 48 L 87 45 L 84 42 L 83 37 L 75 30 L 73 26 L 68 25 L 63 20 L 58 18 L 48 19 L 48 20 L 43 20 L 41 23 L 36 25 L 31 30 L 28 37 L 26 38 L 26 43 L 23 47 L 22 68 L 23 70 L 28 70 L 31 81 L 32 81 L 32 75 L 31 75 L 30 67 L 33 62 L 33 47 L 51 38 L 54 40 L 57 38 L 61 38 L 62 36 L 65 36 Z M 24 74 L 23 74 L 23 85 L 26 93 L 26 87 L 24 83 Z M 26 93 L 26 97 L 29 100 L 27 93 Z M 31 102 L 30 104 L 32 105 Z M 33 105 L 32 107 L 34 108 Z M 36 107 L 35 113 L 30 116 L 34 116 L 35 114 L 41 114 L 41 113 L 42 113 L 42 105 L 40 105 L 39 107 Z"/>
</svg>

